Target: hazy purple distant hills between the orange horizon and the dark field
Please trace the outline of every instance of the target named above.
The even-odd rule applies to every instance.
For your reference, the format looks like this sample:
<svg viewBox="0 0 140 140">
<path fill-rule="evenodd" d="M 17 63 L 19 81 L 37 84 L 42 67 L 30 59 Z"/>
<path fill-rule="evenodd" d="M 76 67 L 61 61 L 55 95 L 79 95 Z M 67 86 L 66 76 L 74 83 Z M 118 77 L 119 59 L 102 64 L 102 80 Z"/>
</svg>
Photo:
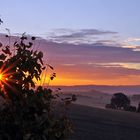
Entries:
<svg viewBox="0 0 140 140">
<path fill-rule="evenodd" d="M 104 108 L 110 103 L 112 94 L 123 92 L 131 99 L 131 105 L 138 106 L 140 102 L 140 86 L 104 86 L 104 85 L 84 85 L 84 86 L 53 86 L 52 89 L 61 88 L 63 96 L 76 94 L 76 104 L 91 107 Z M 133 96 L 132 96 L 133 95 Z"/>
</svg>

